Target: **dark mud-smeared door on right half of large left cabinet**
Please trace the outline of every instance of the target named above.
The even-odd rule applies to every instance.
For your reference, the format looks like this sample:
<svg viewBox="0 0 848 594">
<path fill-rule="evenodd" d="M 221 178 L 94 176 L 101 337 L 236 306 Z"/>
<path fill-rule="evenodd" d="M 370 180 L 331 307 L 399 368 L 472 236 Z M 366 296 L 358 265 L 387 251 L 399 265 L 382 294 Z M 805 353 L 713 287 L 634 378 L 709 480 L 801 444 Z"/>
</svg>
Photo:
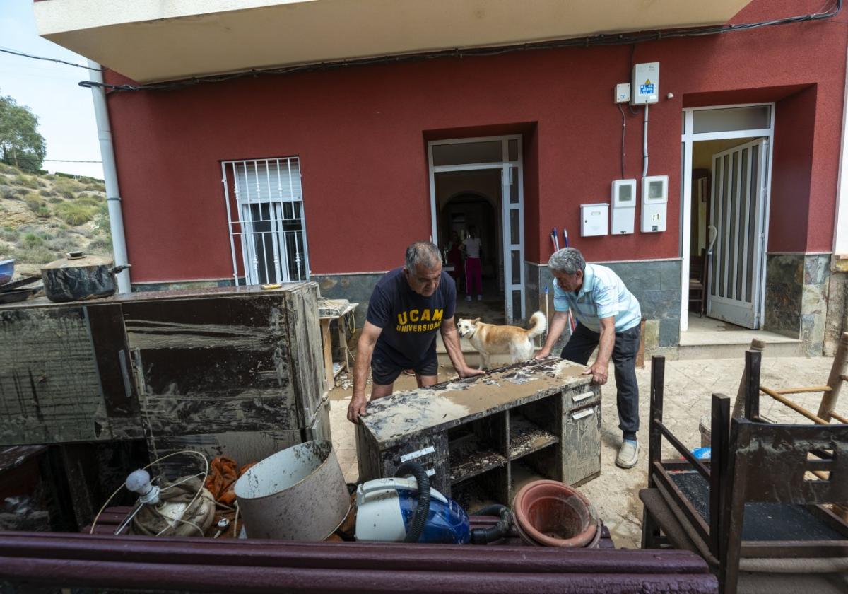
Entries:
<svg viewBox="0 0 848 594">
<path fill-rule="evenodd" d="M 227 440 L 201 436 L 299 434 L 284 295 L 123 304 L 152 456 L 164 453 L 157 442 L 165 437 L 220 446 Z M 270 455 L 270 448 L 254 450 Z"/>
</svg>

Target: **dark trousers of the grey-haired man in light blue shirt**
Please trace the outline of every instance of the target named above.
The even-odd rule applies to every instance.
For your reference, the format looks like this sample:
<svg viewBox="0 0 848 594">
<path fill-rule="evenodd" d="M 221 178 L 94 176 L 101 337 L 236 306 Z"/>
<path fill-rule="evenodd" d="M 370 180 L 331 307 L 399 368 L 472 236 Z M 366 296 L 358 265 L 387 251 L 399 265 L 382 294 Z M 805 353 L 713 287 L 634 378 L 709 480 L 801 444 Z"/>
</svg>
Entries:
<svg viewBox="0 0 848 594">
<path fill-rule="evenodd" d="M 600 334 L 578 323 L 562 349 L 561 357 L 586 365 L 592 351 L 600 342 Z M 616 370 L 618 395 L 618 427 L 625 440 L 635 440 L 639 431 L 639 384 L 636 381 L 636 353 L 639 352 L 639 324 L 616 332 L 616 345 L 612 347 L 612 365 Z"/>
</svg>

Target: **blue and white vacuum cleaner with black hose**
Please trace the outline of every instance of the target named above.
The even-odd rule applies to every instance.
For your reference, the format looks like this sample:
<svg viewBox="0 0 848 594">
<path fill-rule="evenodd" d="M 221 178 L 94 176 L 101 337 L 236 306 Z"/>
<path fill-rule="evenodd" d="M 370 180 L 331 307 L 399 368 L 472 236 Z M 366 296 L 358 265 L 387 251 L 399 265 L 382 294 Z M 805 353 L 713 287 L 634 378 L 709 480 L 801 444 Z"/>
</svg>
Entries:
<svg viewBox="0 0 848 594">
<path fill-rule="evenodd" d="M 402 478 L 407 474 L 414 478 Z M 479 513 L 499 515 L 500 521 L 489 529 L 471 530 L 466 511 L 430 487 L 421 464 L 405 462 L 393 479 L 369 480 L 357 487 L 356 540 L 487 544 L 509 532 L 507 507 L 489 506 Z"/>
</svg>

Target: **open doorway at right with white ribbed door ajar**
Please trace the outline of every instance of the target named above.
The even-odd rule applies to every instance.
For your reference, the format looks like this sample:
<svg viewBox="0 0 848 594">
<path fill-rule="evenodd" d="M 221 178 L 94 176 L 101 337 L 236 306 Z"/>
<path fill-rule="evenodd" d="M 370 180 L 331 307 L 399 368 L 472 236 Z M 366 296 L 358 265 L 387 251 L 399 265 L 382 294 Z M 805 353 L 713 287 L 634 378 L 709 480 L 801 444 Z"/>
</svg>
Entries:
<svg viewBox="0 0 848 594">
<path fill-rule="evenodd" d="M 762 328 L 773 111 L 684 110 L 683 332 Z"/>
</svg>

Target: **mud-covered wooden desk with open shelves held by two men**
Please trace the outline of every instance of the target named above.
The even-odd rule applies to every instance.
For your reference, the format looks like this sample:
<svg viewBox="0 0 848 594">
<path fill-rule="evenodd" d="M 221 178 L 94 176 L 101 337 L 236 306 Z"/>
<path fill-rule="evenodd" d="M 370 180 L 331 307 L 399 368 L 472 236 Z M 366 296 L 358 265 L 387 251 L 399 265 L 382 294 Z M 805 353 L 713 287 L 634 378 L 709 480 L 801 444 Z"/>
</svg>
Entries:
<svg viewBox="0 0 848 594">
<path fill-rule="evenodd" d="M 415 460 L 472 512 L 476 502 L 511 502 L 530 479 L 593 479 L 600 387 L 584 368 L 551 357 L 369 402 L 357 426 L 360 481 Z"/>
</svg>

